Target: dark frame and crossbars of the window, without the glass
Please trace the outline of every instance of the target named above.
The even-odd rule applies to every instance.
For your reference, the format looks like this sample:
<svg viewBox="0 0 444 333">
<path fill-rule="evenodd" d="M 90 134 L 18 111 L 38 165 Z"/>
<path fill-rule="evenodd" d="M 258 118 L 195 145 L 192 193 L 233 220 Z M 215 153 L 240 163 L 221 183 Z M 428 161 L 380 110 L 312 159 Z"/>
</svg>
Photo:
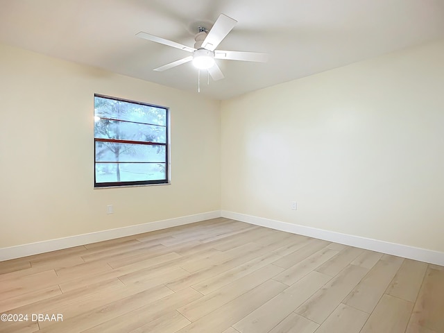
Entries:
<svg viewBox="0 0 444 333">
<path fill-rule="evenodd" d="M 144 105 L 152 108 L 159 108 L 165 110 L 165 143 L 161 142 L 139 142 L 139 141 L 133 141 L 133 140 L 127 140 L 127 139 L 103 139 L 96 137 L 95 129 L 93 127 L 93 137 L 94 137 L 94 189 L 103 189 L 103 188 L 112 188 L 112 187 L 137 187 L 137 186 L 151 186 L 151 185 L 169 185 L 170 184 L 170 167 L 169 167 L 169 146 L 170 146 L 170 137 L 169 137 L 169 108 L 162 105 L 155 105 L 151 103 L 144 103 L 139 101 L 133 101 L 130 99 L 121 99 L 119 97 L 114 96 L 108 96 L 104 94 L 94 94 L 94 117 L 96 117 L 96 111 L 95 111 L 95 98 L 99 97 L 102 99 L 112 99 L 114 101 L 121 101 L 124 103 L 132 103 L 132 104 L 138 104 L 138 105 Z M 108 118 L 101 118 L 101 119 L 108 119 Z M 111 119 L 108 120 L 111 121 L 124 121 L 129 123 L 137 123 L 136 121 L 126 121 L 122 119 Z M 144 123 L 148 126 L 160 126 L 157 124 L 151 124 L 151 123 Z M 162 126 L 163 127 L 163 126 Z M 96 180 L 96 164 L 103 163 L 103 162 L 97 162 L 96 161 L 96 142 L 114 142 L 114 143 L 122 143 L 122 144 L 140 144 L 140 145 L 147 145 L 147 146 L 164 146 L 165 147 L 165 179 L 161 180 L 134 180 L 134 181 L 121 181 L 121 182 L 97 182 Z M 111 163 L 111 162 L 109 162 Z M 116 162 L 112 162 L 116 163 Z M 125 162 L 117 162 L 117 163 L 125 163 Z M 150 162 L 144 162 L 144 163 L 150 163 Z M 154 163 L 154 162 L 152 162 Z"/>
</svg>

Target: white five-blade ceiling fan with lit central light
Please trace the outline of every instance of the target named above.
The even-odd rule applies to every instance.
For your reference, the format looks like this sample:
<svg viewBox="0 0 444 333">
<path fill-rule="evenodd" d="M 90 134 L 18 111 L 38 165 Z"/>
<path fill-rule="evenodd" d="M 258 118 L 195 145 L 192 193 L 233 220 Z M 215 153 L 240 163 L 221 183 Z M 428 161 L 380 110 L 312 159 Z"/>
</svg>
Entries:
<svg viewBox="0 0 444 333">
<path fill-rule="evenodd" d="M 221 80 L 224 78 L 224 76 L 219 66 L 216 64 L 216 62 L 214 62 L 214 59 L 254 62 L 266 62 L 268 60 L 267 53 L 216 50 L 216 47 L 219 46 L 223 38 L 230 33 L 236 24 L 237 21 L 235 19 L 232 19 L 224 14 L 219 15 L 210 31 L 203 26 L 198 27 L 198 33 L 194 38 L 196 41 L 194 47 L 185 46 L 171 40 L 165 40 L 162 37 L 150 35 L 149 33 L 144 33 L 142 31 L 137 33 L 136 36 L 144 38 L 145 40 L 151 40 L 152 42 L 173 46 L 176 47 L 176 49 L 193 53 L 192 56 L 188 56 L 187 58 L 176 60 L 167 65 L 157 67 L 154 69 L 155 71 L 165 71 L 192 61 L 193 65 L 198 69 L 207 69 L 213 80 Z"/>
</svg>

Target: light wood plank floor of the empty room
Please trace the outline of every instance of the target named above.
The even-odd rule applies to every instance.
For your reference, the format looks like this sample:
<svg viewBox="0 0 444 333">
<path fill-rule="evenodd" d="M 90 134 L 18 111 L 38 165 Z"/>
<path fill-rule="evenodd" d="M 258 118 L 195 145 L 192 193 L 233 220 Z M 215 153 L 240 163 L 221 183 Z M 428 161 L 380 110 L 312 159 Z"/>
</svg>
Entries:
<svg viewBox="0 0 444 333">
<path fill-rule="evenodd" d="M 229 219 L 1 262 L 0 274 L 0 314 L 29 319 L 0 332 L 444 332 L 444 267 Z"/>
</svg>

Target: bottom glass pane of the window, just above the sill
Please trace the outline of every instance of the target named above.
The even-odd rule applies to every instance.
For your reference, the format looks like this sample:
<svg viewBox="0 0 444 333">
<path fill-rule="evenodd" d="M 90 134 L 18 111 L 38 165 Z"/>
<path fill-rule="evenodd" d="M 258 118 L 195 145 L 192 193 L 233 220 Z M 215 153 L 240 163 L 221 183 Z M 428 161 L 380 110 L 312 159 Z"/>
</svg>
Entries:
<svg viewBox="0 0 444 333">
<path fill-rule="evenodd" d="M 166 180 L 165 163 L 96 163 L 96 182 Z"/>
</svg>

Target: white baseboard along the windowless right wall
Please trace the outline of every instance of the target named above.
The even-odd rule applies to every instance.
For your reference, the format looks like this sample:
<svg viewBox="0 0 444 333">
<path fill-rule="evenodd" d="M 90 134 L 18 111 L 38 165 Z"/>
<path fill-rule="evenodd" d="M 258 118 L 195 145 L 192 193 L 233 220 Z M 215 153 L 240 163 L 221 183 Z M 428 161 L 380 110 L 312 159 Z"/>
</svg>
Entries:
<svg viewBox="0 0 444 333">
<path fill-rule="evenodd" d="M 266 228 L 291 232 L 293 234 L 302 234 L 303 236 L 307 237 L 324 239 L 325 241 L 333 241 L 334 243 L 355 246 L 356 248 L 364 248 L 366 250 L 386 253 L 388 255 L 396 255 L 398 257 L 404 257 L 419 260 L 420 262 L 428 262 L 429 264 L 444 266 L 444 253 L 434 250 L 427 250 L 425 248 L 414 248 L 413 246 L 353 236 L 352 234 L 341 234 L 339 232 L 310 228 L 304 225 L 264 219 L 262 217 L 240 214 L 236 212 L 228 212 L 225 210 L 221 211 L 221 216 L 241 222 L 261 225 L 262 227 Z"/>
</svg>

